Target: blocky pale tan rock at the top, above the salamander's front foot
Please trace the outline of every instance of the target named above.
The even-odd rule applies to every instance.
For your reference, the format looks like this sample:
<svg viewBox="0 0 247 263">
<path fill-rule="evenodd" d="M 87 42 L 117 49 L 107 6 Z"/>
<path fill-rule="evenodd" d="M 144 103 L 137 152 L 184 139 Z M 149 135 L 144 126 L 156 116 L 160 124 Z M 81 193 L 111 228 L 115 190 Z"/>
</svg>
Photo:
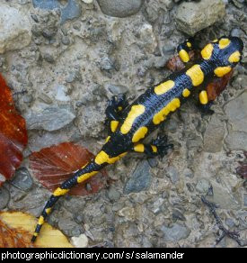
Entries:
<svg viewBox="0 0 247 263">
<path fill-rule="evenodd" d="M 177 11 L 177 27 L 193 36 L 196 32 L 220 21 L 225 16 L 225 4 L 222 0 L 201 0 L 183 2 Z"/>
</svg>

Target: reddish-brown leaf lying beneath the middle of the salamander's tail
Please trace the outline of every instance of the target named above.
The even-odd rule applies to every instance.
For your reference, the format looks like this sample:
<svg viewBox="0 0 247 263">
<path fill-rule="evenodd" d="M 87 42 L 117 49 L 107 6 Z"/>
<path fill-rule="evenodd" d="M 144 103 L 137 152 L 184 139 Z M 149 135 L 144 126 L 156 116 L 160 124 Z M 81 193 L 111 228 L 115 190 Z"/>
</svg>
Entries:
<svg viewBox="0 0 247 263">
<path fill-rule="evenodd" d="M 72 142 L 63 142 L 39 152 L 33 152 L 30 157 L 30 168 L 33 175 L 50 191 L 54 191 L 73 172 L 82 168 L 87 162 L 93 159 L 93 153 L 82 146 Z M 107 173 L 101 173 L 71 189 L 71 195 L 90 195 L 98 192 L 107 185 Z M 86 184 L 90 189 L 86 189 Z"/>
</svg>

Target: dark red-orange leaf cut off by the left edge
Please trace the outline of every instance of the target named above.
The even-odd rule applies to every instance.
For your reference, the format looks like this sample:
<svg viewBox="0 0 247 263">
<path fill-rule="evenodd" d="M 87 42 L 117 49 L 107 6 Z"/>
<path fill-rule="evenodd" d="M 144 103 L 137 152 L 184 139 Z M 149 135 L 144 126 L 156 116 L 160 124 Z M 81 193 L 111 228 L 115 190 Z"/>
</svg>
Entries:
<svg viewBox="0 0 247 263">
<path fill-rule="evenodd" d="M 22 150 L 28 142 L 26 123 L 13 105 L 10 88 L 0 75 L 0 186 L 22 162 Z"/>
</svg>

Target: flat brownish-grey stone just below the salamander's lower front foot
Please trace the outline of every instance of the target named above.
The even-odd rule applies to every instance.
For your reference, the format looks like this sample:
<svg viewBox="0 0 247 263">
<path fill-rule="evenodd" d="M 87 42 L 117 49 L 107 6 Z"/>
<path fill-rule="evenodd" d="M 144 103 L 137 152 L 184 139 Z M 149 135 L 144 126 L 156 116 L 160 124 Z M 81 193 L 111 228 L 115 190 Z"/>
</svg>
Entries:
<svg viewBox="0 0 247 263">
<path fill-rule="evenodd" d="M 218 152 L 222 149 L 225 135 L 224 123 L 214 114 L 207 124 L 204 133 L 204 150 L 207 152 Z"/>
</svg>

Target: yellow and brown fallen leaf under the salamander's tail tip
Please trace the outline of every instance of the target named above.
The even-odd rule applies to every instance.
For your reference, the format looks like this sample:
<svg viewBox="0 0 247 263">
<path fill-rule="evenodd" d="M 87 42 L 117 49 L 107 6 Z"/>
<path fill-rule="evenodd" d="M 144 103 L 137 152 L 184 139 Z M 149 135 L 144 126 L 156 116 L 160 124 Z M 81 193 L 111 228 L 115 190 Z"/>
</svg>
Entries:
<svg viewBox="0 0 247 263">
<path fill-rule="evenodd" d="M 40 231 L 39 239 L 31 243 L 37 219 L 29 213 L 0 213 L 0 248 L 73 248 L 66 236 L 47 222 Z"/>
</svg>

